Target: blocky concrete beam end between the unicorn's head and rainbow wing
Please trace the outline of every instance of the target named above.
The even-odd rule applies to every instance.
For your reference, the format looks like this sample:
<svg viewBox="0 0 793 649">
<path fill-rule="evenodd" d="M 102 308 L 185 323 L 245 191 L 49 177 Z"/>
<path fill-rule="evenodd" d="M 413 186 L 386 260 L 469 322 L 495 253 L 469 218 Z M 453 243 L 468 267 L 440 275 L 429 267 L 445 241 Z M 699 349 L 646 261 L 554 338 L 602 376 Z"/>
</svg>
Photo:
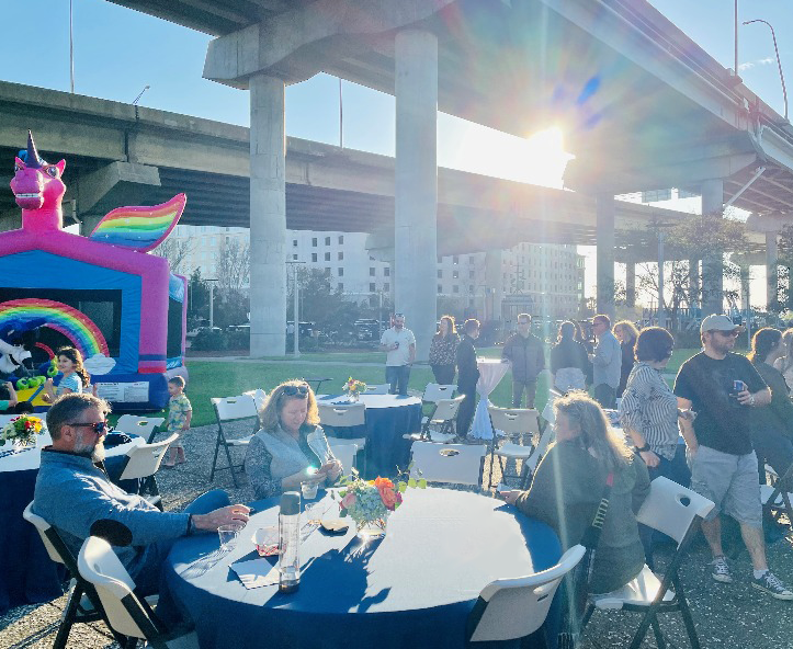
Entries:
<svg viewBox="0 0 793 649">
<path fill-rule="evenodd" d="M 122 205 L 141 205 L 152 189 L 160 186 L 156 167 L 132 162 L 111 162 L 83 173 L 77 185 L 79 214 L 106 214 Z"/>
</svg>

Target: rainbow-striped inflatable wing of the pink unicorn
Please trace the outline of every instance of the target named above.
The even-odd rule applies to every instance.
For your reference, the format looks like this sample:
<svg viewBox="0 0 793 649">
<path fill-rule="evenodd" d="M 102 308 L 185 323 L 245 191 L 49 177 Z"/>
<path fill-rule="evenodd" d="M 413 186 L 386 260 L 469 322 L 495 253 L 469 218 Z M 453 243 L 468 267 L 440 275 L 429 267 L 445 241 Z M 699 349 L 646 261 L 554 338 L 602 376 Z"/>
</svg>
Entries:
<svg viewBox="0 0 793 649">
<path fill-rule="evenodd" d="M 154 207 L 118 207 L 99 221 L 89 239 L 148 252 L 171 234 L 186 202 L 184 194 L 177 194 Z"/>
</svg>

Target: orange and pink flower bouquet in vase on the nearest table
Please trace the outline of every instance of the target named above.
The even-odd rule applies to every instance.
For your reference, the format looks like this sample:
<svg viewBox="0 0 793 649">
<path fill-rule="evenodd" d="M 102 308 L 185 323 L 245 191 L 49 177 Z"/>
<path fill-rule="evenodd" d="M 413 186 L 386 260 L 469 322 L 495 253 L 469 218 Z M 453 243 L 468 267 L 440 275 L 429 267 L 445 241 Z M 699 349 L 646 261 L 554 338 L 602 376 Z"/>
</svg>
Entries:
<svg viewBox="0 0 793 649">
<path fill-rule="evenodd" d="M 358 526 L 359 536 L 376 538 L 385 536 L 388 515 L 403 503 L 403 493 L 409 488 L 427 488 L 427 480 L 410 478 L 396 485 L 388 478 L 364 480 L 352 469 L 339 485 L 340 515 L 350 516 Z"/>
</svg>

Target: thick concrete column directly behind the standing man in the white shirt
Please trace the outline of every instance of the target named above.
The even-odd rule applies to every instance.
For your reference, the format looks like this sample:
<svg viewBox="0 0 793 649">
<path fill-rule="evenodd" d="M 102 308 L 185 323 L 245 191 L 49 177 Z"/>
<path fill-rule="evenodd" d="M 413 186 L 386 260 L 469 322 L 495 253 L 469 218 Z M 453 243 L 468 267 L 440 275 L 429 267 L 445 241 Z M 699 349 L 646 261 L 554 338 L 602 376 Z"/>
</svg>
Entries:
<svg viewBox="0 0 793 649">
<path fill-rule="evenodd" d="M 396 187 L 394 308 L 416 334 L 426 361 L 438 299 L 438 38 L 396 35 Z"/>
</svg>

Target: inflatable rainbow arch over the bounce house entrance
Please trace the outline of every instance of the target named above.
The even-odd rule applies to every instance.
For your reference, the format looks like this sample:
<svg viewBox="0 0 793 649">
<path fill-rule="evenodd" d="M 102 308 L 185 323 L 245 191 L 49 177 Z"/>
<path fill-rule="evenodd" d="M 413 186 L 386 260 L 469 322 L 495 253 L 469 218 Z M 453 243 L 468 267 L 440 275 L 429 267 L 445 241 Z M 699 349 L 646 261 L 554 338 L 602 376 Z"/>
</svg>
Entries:
<svg viewBox="0 0 793 649">
<path fill-rule="evenodd" d="M 9 320 L 32 320 L 44 318 L 49 327 L 68 338 L 80 350 L 83 358 L 97 354 L 110 355 L 107 342 L 102 332 L 77 309 L 52 299 L 26 298 L 0 303 L 0 327 Z"/>
</svg>

